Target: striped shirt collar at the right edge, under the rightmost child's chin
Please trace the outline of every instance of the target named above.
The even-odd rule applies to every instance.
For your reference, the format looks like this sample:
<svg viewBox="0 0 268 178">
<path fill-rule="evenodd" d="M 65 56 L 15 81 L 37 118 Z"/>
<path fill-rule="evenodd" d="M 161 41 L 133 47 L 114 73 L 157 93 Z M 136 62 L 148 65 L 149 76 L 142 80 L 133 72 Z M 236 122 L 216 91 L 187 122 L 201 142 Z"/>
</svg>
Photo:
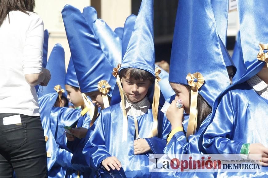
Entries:
<svg viewBox="0 0 268 178">
<path fill-rule="evenodd" d="M 251 77 L 247 83 L 255 90 L 258 95 L 268 100 L 268 85 L 257 75 Z"/>
</svg>

